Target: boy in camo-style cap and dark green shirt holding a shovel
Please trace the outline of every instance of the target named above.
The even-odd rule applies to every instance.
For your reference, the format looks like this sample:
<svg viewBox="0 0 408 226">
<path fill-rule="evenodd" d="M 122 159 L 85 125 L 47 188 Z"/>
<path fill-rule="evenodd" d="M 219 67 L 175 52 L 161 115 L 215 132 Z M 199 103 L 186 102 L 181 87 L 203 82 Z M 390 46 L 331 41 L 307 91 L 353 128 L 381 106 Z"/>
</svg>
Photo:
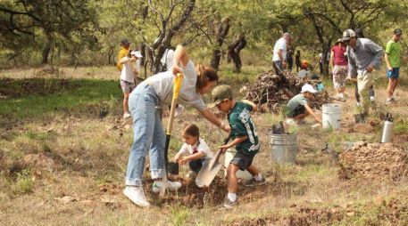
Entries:
<svg viewBox="0 0 408 226">
<path fill-rule="evenodd" d="M 251 101 L 235 101 L 232 89 L 229 85 L 219 85 L 212 90 L 212 106 L 228 114 L 230 136 L 233 141 L 222 145 L 220 149 L 225 151 L 236 146 L 237 154 L 232 158 L 227 169 L 228 195 L 224 201 L 225 208 L 237 205 L 237 171 L 247 170 L 254 178 L 245 182 L 246 186 L 259 185 L 265 182 L 258 169 L 252 164 L 254 156 L 260 149 L 258 134 L 255 130 L 254 121 L 249 112 L 256 111 L 256 105 Z"/>
</svg>

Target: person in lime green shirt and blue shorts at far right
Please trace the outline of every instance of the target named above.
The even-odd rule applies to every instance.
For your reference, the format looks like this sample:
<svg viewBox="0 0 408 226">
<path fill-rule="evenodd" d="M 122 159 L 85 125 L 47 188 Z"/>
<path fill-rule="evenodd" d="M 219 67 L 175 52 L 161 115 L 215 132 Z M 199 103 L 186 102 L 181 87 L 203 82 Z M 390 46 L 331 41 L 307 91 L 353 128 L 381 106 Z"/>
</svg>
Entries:
<svg viewBox="0 0 408 226">
<path fill-rule="evenodd" d="M 394 92 L 396 91 L 396 85 L 398 85 L 399 68 L 401 66 L 401 44 L 399 44 L 399 40 L 401 39 L 402 34 L 403 31 L 400 28 L 396 28 L 393 37 L 388 41 L 386 47 L 386 54 L 384 56 L 387 64 L 388 77 L 386 104 L 396 101 L 394 98 Z"/>
</svg>

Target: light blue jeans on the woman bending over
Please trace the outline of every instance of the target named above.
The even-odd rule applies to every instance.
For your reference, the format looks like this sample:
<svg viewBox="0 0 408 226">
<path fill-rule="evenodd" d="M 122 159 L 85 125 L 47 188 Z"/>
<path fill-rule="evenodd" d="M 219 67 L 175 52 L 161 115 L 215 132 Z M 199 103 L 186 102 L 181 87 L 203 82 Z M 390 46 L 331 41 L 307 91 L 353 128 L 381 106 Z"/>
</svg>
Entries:
<svg viewBox="0 0 408 226">
<path fill-rule="evenodd" d="M 164 173 L 164 144 L 162 121 L 155 109 L 159 99 L 154 88 L 145 83 L 137 85 L 129 96 L 129 111 L 133 119 L 133 144 L 130 149 L 126 185 L 142 185 L 146 153 L 150 154 L 152 179 Z"/>
</svg>

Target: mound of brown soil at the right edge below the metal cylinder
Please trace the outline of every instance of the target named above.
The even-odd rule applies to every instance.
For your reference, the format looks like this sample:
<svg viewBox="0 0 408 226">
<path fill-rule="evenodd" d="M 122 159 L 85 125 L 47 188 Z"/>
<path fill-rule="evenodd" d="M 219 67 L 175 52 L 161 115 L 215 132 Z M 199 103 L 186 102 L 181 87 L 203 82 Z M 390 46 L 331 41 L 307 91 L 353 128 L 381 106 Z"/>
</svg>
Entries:
<svg viewBox="0 0 408 226">
<path fill-rule="evenodd" d="M 339 156 L 341 178 L 354 174 L 397 180 L 408 175 L 408 152 L 393 143 L 357 142 Z"/>
</svg>

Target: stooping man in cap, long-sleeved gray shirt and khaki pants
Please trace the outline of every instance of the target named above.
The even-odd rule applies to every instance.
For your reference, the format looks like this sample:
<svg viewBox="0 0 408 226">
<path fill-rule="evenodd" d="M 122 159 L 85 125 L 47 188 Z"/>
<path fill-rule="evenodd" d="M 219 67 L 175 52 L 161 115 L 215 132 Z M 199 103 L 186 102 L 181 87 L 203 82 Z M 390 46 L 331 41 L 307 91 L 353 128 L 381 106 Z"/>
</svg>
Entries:
<svg viewBox="0 0 408 226">
<path fill-rule="evenodd" d="M 358 93 L 362 101 L 362 115 L 367 117 L 371 105 L 368 90 L 374 84 L 375 74 L 373 69 L 379 69 L 382 48 L 368 38 L 357 38 L 352 29 L 343 32 L 343 41 L 347 44 L 348 57 L 347 78 L 357 71 Z"/>
</svg>

